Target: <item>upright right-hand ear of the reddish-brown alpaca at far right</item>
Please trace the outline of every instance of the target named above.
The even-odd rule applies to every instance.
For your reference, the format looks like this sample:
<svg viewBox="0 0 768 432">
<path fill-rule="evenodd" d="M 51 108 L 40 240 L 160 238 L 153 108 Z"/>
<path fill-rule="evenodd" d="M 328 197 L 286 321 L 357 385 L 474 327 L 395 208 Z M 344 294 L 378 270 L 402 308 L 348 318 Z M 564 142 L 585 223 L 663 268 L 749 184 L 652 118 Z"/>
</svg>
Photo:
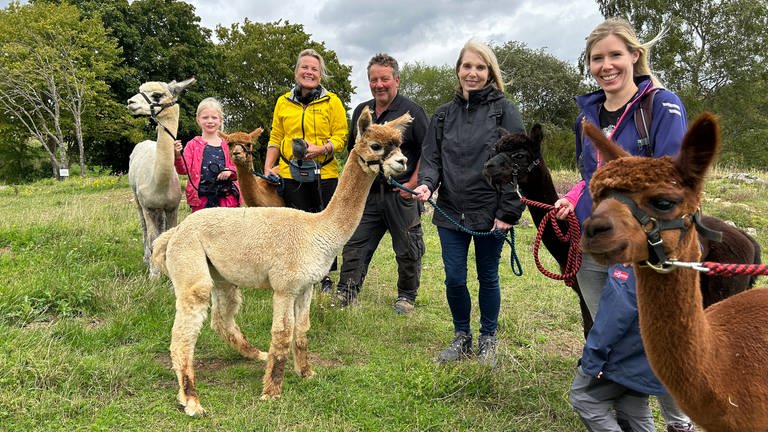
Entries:
<svg viewBox="0 0 768 432">
<path fill-rule="evenodd" d="M 704 182 L 704 175 L 720 150 L 720 130 L 717 118 L 708 112 L 699 115 L 683 137 L 675 168 L 685 185 L 695 188 Z"/>
</svg>

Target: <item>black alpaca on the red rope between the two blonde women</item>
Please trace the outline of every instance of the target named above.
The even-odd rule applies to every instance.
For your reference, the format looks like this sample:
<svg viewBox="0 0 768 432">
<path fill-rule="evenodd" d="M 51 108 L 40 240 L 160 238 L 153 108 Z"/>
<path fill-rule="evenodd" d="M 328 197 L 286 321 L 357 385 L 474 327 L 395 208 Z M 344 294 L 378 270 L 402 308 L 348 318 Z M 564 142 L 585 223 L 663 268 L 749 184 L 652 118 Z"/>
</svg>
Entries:
<svg viewBox="0 0 768 432">
<path fill-rule="evenodd" d="M 492 184 L 516 183 L 521 194 L 531 201 L 545 204 L 554 204 L 557 201 L 557 190 L 549 169 L 541 156 L 541 142 L 544 140 L 544 132 L 540 124 L 531 128 L 530 137 L 522 133 L 502 133 L 502 137 L 496 142 L 496 154 L 491 157 L 483 167 L 483 175 Z M 541 224 L 548 210 L 528 206 L 531 219 L 536 226 Z M 560 222 L 561 232 L 566 232 L 568 227 Z M 549 253 L 560 265 L 560 271 L 565 271 L 568 262 L 568 250 L 570 246 L 560 241 L 551 226 L 547 226 L 542 234 L 542 242 Z M 592 315 L 581 295 L 579 283 L 574 278 L 571 289 L 579 297 L 579 309 L 581 310 L 581 322 L 586 338 L 589 329 L 592 328 Z"/>
</svg>

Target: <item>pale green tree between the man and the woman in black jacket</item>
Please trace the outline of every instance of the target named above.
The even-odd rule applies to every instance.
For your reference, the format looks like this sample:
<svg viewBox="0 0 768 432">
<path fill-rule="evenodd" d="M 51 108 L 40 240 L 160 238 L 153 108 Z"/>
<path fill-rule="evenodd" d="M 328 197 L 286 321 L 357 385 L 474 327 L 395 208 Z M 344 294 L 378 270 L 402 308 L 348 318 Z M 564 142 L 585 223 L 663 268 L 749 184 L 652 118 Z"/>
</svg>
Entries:
<svg viewBox="0 0 768 432">
<path fill-rule="evenodd" d="M 456 72 L 449 65 L 405 63 L 400 67 L 399 92 L 421 105 L 431 117 L 438 106 L 449 102 L 456 93 Z"/>
</svg>

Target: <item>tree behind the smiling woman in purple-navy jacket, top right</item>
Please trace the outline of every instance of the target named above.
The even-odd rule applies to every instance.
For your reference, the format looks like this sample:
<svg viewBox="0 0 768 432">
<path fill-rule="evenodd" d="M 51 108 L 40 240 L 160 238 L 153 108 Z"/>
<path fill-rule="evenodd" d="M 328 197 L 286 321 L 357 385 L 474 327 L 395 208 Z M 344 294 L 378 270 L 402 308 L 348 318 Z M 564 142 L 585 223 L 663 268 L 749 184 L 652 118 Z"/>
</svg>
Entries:
<svg viewBox="0 0 768 432">
<path fill-rule="evenodd" d="M 641 40 L 663 28 L 651 50 L 654 72 L 675 91 L 689 116 L 702 111 L 720 115 L 723 155 L 750 166 L 768 157 L 753 147 L 768 129 L 768 2 L 765 0 L 598 0 L 605 16 L 629 20 Z M 731 158 L 729 160 L 729 158 Z"/>
</svg>

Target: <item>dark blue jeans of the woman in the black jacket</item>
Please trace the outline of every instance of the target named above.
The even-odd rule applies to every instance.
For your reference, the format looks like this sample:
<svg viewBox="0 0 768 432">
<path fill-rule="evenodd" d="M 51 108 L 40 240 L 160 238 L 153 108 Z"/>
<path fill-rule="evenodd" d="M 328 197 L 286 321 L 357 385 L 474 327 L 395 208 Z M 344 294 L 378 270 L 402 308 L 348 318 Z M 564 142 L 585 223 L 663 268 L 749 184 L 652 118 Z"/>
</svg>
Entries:
<svg viewBox="0 0 768 432">
<path fill-rule="evenodd" d="M 453 316 L 454 331 L 471 333 L 469 324 L 472 299 L 467 289 L 469 243 L 475 243 L 475 268 L 480 283 L 480 334 L 495 335 L 501 306 L 499 260 L 503 238 L 472 236 L 461 231 L 437 227 L 445 268 L 445 297 Z"/>
</svg>

